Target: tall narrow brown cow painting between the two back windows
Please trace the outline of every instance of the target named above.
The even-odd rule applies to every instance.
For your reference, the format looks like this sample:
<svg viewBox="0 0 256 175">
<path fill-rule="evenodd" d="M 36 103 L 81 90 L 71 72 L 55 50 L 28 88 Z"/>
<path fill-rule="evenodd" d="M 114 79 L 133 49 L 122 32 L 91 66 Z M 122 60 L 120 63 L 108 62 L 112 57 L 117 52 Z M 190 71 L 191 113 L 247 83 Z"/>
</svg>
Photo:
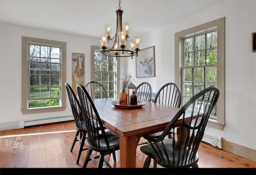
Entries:
<svg viewBox="0 0 256 175">
<path fill-rule="evenodd" d="M 84 85 L 84 69 L 84 54 L 72 53 L 72 89 L 76 95 L 76 84 Z"/>
</svg>

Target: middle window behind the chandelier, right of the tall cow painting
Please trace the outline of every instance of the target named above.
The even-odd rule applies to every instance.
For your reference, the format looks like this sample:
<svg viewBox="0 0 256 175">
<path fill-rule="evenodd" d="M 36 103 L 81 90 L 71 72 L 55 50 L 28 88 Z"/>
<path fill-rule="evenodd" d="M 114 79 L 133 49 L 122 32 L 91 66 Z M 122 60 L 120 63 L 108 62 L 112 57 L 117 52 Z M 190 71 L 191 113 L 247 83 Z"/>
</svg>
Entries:
<svg viewBox="0 0 256 175">
<path fill-rule="evenodd" d="M 116 97 L 116 57 L 102 56 L 97 46 L 92 46 L 92 56 L 92 81 L 101 83 L 108 97 Z"/>
</svg>

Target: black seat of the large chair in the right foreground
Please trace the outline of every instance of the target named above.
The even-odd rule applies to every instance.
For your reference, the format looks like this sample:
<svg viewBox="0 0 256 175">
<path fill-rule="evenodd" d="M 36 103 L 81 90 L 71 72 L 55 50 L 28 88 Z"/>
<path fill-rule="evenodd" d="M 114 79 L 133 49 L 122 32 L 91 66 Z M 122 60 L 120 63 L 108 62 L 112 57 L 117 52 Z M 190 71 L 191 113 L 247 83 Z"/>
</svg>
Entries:
<svg viewBox="0 0 256 175">
<path fill-rule="evenodd" d="M 198 153 L 196 153 L 196 156 L 193 159 L 190 159 L 189 162 L 182 162 L 182 160 L 177 159 L 178 156 L 173 156 L 173 149 L 172 149 L 172 142 L 173 139 L 164 139 L 163 141 L 164 147 L 167 151 L 167 155 L 168 158 L 163 155 L 163 159 L 160 160 L 160 158 L 158 157 L 158 155 L 156 155 L 156 153 L 154 152 L 154 150 L 152 149 L 151 145 L 145 145 L 140 147 L 140 151 L 142 151 L 142 153 L 148 155 L 149 157 L 151 157 L 152 159 L 156 160 L 157 163 L 162 166 L 162 167 L 166 167 L 166 168 L 173 168 L 173 167 L 192 167 L 194 165 L 196 165 L 196 163 L 198 162 Z M 175 143 L 177 144 L 177 141 L 175 141 Z M 155 145 L 155 143 L 153 143 Z M 162 153 L 164 153 L 164 148 L 161 142 L 157 143 L 158 147 L 161 149 Z M 178 153 L 180 152 L 180 154 L 184 153 L 184 145 L 181 147 L 181 149 L 176 149 L 175 150 L 175 155 L 178 155 Z M 188 151 L 188 147 L 186 147 L 186 151 Z M 186 154 L 185 154 L 186 155 Z M 173 157 L 175 157 L 175 160 L 173 160 Z M 182 156 L 180 156 L 182 157 Z"/>
</svg>

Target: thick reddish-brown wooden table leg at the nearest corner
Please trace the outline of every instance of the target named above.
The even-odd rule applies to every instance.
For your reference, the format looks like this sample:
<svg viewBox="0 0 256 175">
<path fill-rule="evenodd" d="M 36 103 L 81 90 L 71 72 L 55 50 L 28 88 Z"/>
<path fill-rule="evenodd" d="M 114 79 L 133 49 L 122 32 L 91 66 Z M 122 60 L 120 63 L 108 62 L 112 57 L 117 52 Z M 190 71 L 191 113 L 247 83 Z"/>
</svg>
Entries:
<svg viewBox="0 0 256 175">
<path fill-rule="evenodd" d="M 137 138 L 135 135 L 129 137 L 119 137 L 120 140 L 120 167 L 136 167 Z"/>
</svg>

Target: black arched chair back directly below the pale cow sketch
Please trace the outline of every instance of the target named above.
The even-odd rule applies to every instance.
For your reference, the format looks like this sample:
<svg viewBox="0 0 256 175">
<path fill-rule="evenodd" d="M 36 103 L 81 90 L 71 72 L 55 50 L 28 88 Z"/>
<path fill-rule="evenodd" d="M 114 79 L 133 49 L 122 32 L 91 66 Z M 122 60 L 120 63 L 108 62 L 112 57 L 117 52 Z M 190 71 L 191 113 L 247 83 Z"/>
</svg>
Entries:
<svg viewBox="0 0 256 175">
<path fill-rule="evenodd" d="M 137 100 L 140 101 L 151 101 L 152 98 L 152 87 L 148 82 L 142 82 L 136 88 Z"/>
</svg>

